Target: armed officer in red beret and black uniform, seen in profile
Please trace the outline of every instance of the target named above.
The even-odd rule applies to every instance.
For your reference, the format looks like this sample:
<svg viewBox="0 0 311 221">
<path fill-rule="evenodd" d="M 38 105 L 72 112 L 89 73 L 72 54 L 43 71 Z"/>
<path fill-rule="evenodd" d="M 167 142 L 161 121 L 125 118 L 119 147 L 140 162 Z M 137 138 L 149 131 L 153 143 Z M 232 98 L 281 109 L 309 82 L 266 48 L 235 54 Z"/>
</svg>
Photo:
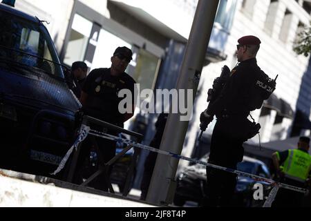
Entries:
<svg viewBox="0 0 311 221">
<path fill-rule="evenodd" d="M 211 164 L 236 169 L 243 160 L 243 142 L 256 135 L 251 135 L 252 122 L 247 117 L 250 111 L 263 104 L 258 90 L 253 89 L 258 77 L 267 76 L 257 66 L 260 44 L 261 40 L 252 35 L 238 39 L 236 57 L 239 63 L 231 71 L 220 95 L 200 116 L 201 124 L 210 122 L 214 115 L 217 118 L 211 137 Z M 207 167 L 207 198 L 203 205 L 232 206 L 235 186 L 236 175 Z"/>
</svg>

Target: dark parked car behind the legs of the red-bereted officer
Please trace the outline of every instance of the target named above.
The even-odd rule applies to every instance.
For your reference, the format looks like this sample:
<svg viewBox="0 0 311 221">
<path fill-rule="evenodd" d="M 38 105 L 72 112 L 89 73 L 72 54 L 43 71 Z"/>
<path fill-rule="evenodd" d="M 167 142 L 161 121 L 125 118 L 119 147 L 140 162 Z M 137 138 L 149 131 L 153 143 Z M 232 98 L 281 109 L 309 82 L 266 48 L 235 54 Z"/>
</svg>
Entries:
<svg viewBox="0 0 311 221">
<path fill-rule="evenodd" d="M 207 162 L 208 154 L 204 155 L 200 161 Z M 265 163 L 252 157 L 243 157 L 243 162 L 238 163 L 238 171 L 252 173 L 261 177 L 270 178 L 270 171 Z M 263 184 L 264 200 L 254 200 L 253 186 L 256 183 Z M 201 204 L 205 196 L 206 187 L 206 166 L 194 164 L 187 166 L 178 174 L 177 188 L 174 197 L 176 206 L 183 206 L 186 201 L 197 202 Z M 234 193 L 234 202 L 236 206 L 262 206 L 270 193 L 272 186 L 267 182 L 256 181 L 245 176 L 238 176 L 236 190 Z"/>
</svg>

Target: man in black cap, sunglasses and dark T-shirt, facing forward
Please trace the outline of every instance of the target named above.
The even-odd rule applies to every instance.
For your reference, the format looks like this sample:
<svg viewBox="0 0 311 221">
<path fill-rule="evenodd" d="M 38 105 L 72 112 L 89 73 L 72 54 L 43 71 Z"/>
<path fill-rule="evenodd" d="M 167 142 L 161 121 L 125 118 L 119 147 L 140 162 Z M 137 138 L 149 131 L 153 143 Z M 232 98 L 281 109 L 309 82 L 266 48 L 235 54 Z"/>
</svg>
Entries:
<svg viewBox="0 0 311 221">
<path fill-rule="evenodd" d="M 89 73 L 84 82 L 80 97 L 83 111 L 86 115 L 120 127 L 124 126 L 126 120 L 133 117 L 135 109 L 134 87 L 136 82 L 130 75 L 125 73 L 132 59 L 132 55 L 133 52 L 131 49 L 125 46 L 117 47 L 115 52 L 113 52 L 113 57 L 111 57 L 110 68 L 97 68 Z M 118 93 L 122 89 L 131 91 L 132 104 L 129 104 L 131 106 L 131 113 L 121 113 L 119 110 L 119 104 L 122 99 L 124 99 L 123 97 L 118 97 Z M 96 131 L 103 131 L 102 126 L 91 124 L 91 128 Z M 117 135 L 117 132 L 112 129 L 108 129 L 106 133 Z M 109 162 L 109 160 L 115 156 L 115 142 L 98 137 L 95 137 L 95 140 L 100 148 L 102 160 L 104 160 L 104 162 L 101 163 Z M 91 145 L 91 140 L 87 137 L 79 154 L 77 171 L 83 169 L 83 160 L 89 156 L 89 148 Z M 111 169 L 108 175 L 110 172 Z M 79 175 L 77 179 L 75 179 L 75 182 L 78 184 L 81 182 L 81 177 L 79 177 Z M 102 189 L 103 191 L 108 191 L 109 189 L 103 174 L 99 175 L 93 181 L 93 184 L 96 189 Z"/>
</svg>

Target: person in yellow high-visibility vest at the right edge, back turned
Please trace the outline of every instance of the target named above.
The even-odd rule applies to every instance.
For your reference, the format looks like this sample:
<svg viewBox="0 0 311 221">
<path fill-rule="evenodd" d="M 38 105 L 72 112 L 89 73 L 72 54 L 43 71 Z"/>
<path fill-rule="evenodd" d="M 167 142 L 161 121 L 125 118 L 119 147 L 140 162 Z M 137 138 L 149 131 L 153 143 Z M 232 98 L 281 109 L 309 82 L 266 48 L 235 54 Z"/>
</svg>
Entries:
<svg viewBox="0 0 311 221">
<path fill-rule="evenodd" d="M 289 149 L 272 154 L 272 161 L 279 182 L 308 188 L 311 173 L 311 155 L 309 137 L 299 137 L 297 149 Z M 272 206 L 301 206 L 304 194 L 288 189 L 279 189 Z"/>
</svg>

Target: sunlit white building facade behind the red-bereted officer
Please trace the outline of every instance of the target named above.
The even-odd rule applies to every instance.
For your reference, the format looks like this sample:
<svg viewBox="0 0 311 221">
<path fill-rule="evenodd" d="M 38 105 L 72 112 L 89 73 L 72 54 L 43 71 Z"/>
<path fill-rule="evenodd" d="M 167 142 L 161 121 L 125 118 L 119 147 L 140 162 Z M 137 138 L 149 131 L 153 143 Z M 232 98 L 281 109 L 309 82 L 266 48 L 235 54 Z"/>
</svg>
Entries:
<svg viewBox="0 0 311 221">
<path fill-rule="evenodd" d="M 310 2 L 308 1 L 237 1 L 231 33 L 227 40 L 225 61 L 205 66 L 200 81 L 200 93 L 196 99 L 194 119 L 189 124 L 184 155 L 191 156 L 188 146 L 196 146 L 199 115 L 205 110 L 206 92 L 213 79 L 218 77 L 223 65 L 236 66 L 237 39 L 244 35 L 256 35 L 262 41 L 257 55 L 258 66 L 271 78 L 279 75 L 276 90 L 265 101 L 261 110 L 252 117 L 261 124 L 261 142 L 283 140 L 289 137 L 294 126 L 297 110 L 303 111 L 305 126 L 298 126 L 299 135 L 310 135 L 310 57 L 296 55 L 292 50 L 298 32 L 310 22 Z M 211 123 L 207 134 L 211 134 Z M 296 133 L 296 134 L 297 134 Z M 259 142 L 258 136 L 249 142 Z"/>
</svg>

